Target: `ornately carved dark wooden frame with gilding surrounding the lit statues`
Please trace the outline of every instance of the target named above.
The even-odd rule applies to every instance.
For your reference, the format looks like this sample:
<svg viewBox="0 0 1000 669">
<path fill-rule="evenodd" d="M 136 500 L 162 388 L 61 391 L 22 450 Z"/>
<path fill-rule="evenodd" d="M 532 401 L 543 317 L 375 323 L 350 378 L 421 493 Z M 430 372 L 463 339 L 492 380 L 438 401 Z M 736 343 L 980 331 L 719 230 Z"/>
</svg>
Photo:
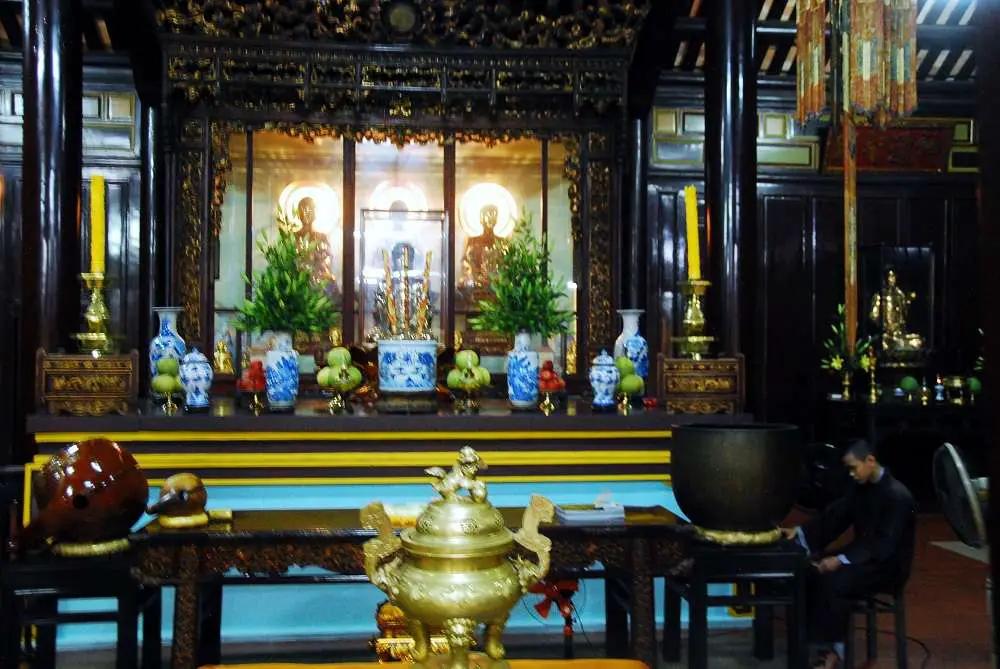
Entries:
<svg viewBox="0 0 1000 669">
<path fill-rule="evenodd" d="M 567 149 L 572 235 L 583 265 L 578 359 L 609 346 L 619 302 L 626 84 L 649 2 L 586 0 L 571 11 L 563 4 L 137 3 L 131 12 L 153 39 L 136 69 L 157 75 L 160 89 L 147 95 L 159 98 L 170 128 L 169 297 L 184 309 L 185 339 L 211 350 L 229 138 L 268 129 L 308 141 L 344 138 L 345 147 L 366 139 L 436 142 L 446 152 L 460 142 L 558 139 Z M 345 148 L 345 172 L 352 151 Z M 454 210 L 447 185 L 445 193 L 445 208 Z M 345 189 L 345 227 L 354 223 L 346 204 L 353 197 Z M 349 255 L 345 246 L 345 305 L 355 300 Z M 351 318 L 345 307 L 348 342 Z M 454 310 L 442 319 L 445 343 L 453 343 Z"/>
</svg>

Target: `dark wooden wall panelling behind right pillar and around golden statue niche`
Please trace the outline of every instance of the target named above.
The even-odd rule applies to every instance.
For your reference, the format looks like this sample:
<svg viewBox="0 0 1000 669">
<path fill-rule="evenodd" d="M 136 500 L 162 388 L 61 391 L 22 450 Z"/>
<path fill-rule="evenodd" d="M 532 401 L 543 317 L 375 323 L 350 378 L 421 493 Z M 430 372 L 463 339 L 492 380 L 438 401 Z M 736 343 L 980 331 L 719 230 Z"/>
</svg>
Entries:
<svg viewBox="0 0 1000 669">
<path fill-rule="evenodd" d="M 968 371 L 978 347 L 975 297 L 976 204 L 974 180 L 955 177 L 863 176 L 859 188 L 859 246 L 929 245 L 935 251 L 935 348 L 942 370 Z M 652 175 L 649 231 L 659 257 L 649 258 L 647 305 L 650 323 L 674 327 L 684 278 L 683 208 L 677 193 L 689 176 Z M 700 186 L 699 186 L 700 188 Z M 837 305 L 844 299 L 843 200 L 839 177 L 802 175 L 758 183 L 757 256 L 763 263 L 758 282 L 759 342 L 744 351 L 760 363 L 758 378 L 748 378 L 750 405 L 760 418 L 809 427 L 813 406 L 837 383 L 819 370 L 822 342 Z M 704 234 L 704 230 L 703 230 Z M 673 240 L 668 243 L 667 240 Z M 672 262 L 660 262 L 660 259 Z M 710 264 L 703 262 L 703 266 Z M 905 288 L 905 287 L 904 287 Z M 861 318 L 868 298 L 861 296 Z M 669 316 L 669 318 L 668 318 Z M 670 321 L 670 322 L 668 322 Z M 746 326 L 745 326 L 746 327 Z M 651 339 L 661 350 L 662 336 Z M 750 367 L 748 367 L 749 369 Z"/>
</svg>

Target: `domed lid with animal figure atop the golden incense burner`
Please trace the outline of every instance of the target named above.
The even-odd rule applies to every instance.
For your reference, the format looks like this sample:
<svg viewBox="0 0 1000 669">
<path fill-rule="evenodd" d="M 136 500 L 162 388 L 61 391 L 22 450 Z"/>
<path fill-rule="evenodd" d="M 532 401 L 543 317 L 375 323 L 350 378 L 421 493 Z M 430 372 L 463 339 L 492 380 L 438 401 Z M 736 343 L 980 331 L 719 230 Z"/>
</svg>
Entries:
<svg viewBox="0 0 1000 669">
<path fill-rule="evenodd" d="M 400 535 L 408 553 L 459 559 L 505 556 L 511 551 L 513 535 L 487 500 L 486 484 L 476 478 L 485 468 L 479 454 L 466 446 L 450 471 L 441 467 L 427 470 L 438 479 L 432 485 L 441 499 L 428 504 L 416 527 Z"/>
</svg>

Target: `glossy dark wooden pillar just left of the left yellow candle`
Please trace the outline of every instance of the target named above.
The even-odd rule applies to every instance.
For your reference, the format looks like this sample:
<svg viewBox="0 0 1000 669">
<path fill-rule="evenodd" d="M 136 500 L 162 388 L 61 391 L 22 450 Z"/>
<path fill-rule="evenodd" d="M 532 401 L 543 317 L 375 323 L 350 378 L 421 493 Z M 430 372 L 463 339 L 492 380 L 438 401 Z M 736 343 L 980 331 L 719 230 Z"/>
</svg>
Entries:
<svg viewBox="0 0 1000 669">
<path fill-rule="evenodd" d="M 19 415 L 34 404 L 39 346 L 70 350 L 81 326 L 79 0 L 24 3 Z"/>
</svg>

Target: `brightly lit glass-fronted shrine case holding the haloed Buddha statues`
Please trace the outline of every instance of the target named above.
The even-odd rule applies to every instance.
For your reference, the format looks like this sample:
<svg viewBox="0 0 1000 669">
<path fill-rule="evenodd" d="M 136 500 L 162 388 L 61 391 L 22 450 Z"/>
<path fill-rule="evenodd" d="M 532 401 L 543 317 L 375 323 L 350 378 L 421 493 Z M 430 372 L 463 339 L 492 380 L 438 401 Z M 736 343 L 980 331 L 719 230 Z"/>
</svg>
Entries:
<svg viewBox="0 0 1000 669">
<path fill-rule="evenodd" d="M 307 354 L 300 356 L 303 372 L 314 368 L 309 359 L 321 364 L 331 344 L 369 346 L 386 327 L 378 315 L 385 297 L 383 251 L 390 274 L 408 276 L 399 286 L 414 288 L 423 285 L 429 252 L 431 336 L 444 345 L 478 350 L 492 371 L 502 372 L 510 338 L 474 332 L 467 319 L 492 295 L 496 244 L 522 216 L 530 218 L 537 235 L 547 237 L 553 277 L 566 293 L 559 306 L 576 314 L 586 264 L 574 230 L 570 185 L 567 150 L 554 139 L 456 141 L 452 147 L 322 132 L 306 137 L 280 129 L 234 133 L 218 209 L 213 330 L 206 341 L 226 343 L 237 374 L 248 359 L 263 355 L 266 340 L 237 336 L 231 321 L 249 295 L 244 276 L 264 267 L 257 240 L 285 225 L 315 242 L 318 252 L 308 262 L 316 276 L 329 281 L 342 315 L 335 331 L 296 338 L 296 348 Z M 568 335 L 533 346 L 574 373 L 576 332 L 574 319 Z"/>
</svg>

